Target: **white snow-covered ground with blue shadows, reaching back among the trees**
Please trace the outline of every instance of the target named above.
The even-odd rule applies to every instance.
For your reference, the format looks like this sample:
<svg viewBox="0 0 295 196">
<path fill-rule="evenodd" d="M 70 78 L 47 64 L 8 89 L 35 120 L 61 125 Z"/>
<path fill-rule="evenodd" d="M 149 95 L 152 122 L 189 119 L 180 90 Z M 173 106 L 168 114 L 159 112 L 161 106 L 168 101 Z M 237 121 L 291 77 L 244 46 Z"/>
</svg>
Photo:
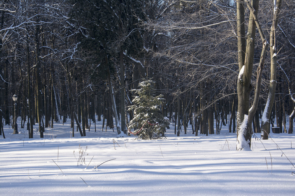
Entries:
<svg viewBox="0 0 295 196">
<path fill-rule="evenodd" d="M 20 128 L 20 134 L 12 134 L 8 125 L 4 131 L 3 196 L 295 194 L 295 167 L 290 163 L 295 164 L 295 134 L 253 138 L 252 151 L 236 151 L 237 136 L 227 127 L 220 135 L 194 136 L 190 128 L 177 137 L 171 126 L 161 140 L 116 138 L 116 129 L 102 132 L 101 122 L 96 132 L 91 122 L 86 137 L 79 132 L 71 137 L 69 123 L 46 128 L 45 138 L 35 132 L 29 139 Z M 83 163 L 77 161 L 79 146 L 85 152 Z"/>
</svg>

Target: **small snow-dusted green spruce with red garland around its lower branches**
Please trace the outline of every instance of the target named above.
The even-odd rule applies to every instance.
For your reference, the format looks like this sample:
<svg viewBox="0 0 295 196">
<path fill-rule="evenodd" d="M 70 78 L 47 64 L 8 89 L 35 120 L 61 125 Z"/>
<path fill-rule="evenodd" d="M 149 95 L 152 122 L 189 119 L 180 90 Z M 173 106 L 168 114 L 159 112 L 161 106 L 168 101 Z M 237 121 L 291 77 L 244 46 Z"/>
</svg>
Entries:
<svg viewBox="0 0 295 196">
<path fill-rule="evenodd" d="M 154 84 L 152 80 L 144 79 L 139 83 L 139 89 L 134 89 L 138 96 L 133 98 L 133 105 L 128 110 L 133 110 L 134 117 L 130 121 L 128 130 L 132 134 L 138 134 L 137 139 L 151 140 L 160 139 L 164 136 L 166 120 L 161 112 L 163 95 L 154 95 Z"/>
</svg>

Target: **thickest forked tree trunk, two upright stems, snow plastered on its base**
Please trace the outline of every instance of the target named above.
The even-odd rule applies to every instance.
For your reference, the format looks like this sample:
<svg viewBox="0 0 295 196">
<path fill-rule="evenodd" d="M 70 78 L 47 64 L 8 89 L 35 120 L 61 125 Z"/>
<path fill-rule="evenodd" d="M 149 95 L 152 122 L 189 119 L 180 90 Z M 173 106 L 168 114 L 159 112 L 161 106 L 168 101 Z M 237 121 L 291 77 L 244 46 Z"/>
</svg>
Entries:
<svg viewBox="0 0 295 196">
<path fill-rule="evenodd" d="M 258 0 L 251 2 L 252 8 L 258 11 Z M 256 33 L 255 14 L 250 12 L 247 45 L 245 44 L 245 9 L 244 5 L 237 1 L 237 25 L 238 25 L 238 53 L 239 53 L 239 76 L 237 81 L 237 150 L 250 150 L 252 135 L 252 117 L 249 114 L 249 96 L 252 89 L 251 76 L 254 59 L 254 40 Z M 239 38 L 240 37 L 240 38 Z M 246 47 L 245 47 L 246 45 Z M 240 54 L 241 53 L 241 54 Z M 243 61 L 245 60 L 245 61 Z M 258 84 L 257 84 L 258 85 Z M 260 90 L 260 89 L 259 89 Z M 256 110 L 256 108 L 255 108 Z"/>
</svg>

